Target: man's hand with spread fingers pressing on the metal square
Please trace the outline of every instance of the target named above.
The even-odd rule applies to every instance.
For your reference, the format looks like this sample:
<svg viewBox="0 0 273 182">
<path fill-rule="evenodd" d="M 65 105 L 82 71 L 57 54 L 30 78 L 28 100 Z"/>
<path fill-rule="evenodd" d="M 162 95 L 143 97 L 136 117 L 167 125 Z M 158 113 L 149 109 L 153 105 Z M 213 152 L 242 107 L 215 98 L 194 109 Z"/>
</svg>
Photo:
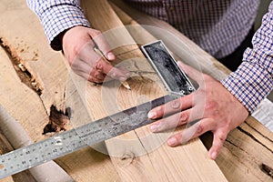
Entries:
<svg viewBox="0 0 273 182">
<path fill-rule="evenodd" d="M 183 96 L 166 105 L 152 109 L 148 113 L 149 118 L 156 119 L 170 114 L 171 116 L 152 124 L 151 130 L 160 132 L 199 120 L 181 133 L 170 136 L 167 139 L 167 144 L 170 147 L 176 147 L 186 143 L 191 138 L 212 131 L 214 137 L 208 155 L 215 159 L 227 138 L 227 134 L 245 121 L 248 110 L 211 76 L 202 74 L 181 62 L 178 64 L 189 77 L 197 81 L 199 87 L 197 91 L 188 96 Z"/>
</svg>

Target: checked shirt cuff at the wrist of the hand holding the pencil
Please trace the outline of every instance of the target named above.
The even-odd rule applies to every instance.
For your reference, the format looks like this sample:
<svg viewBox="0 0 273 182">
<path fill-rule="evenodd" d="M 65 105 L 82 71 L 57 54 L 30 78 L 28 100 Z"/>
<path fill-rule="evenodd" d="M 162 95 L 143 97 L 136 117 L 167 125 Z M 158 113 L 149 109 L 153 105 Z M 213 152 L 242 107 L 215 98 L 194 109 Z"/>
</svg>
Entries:
<svg viewBox="0 0 273 182">
<path fill-rule="evenodd" d="M 55 5 L 41 15 L 45 35 L 54 50 L 61 50 L 62 44 L 58 37 L 65 30 L 76 25 L 90 27 L 83 10 L 75 5 Z"/>
</svg>

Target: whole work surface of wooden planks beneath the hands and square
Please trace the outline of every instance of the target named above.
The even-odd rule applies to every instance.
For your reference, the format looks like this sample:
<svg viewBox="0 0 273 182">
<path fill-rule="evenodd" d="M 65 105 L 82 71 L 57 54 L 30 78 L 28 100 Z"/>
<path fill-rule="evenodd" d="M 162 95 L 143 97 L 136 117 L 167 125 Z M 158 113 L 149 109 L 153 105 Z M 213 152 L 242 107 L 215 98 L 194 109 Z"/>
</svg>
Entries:
<svg viewBox="0 0 273 182">
<path fill-rule="evenodd" d="M 43 135 L 44 127 L 52 122 L 49 117 L 54 108 L 67 122 L 66 129 L 70 129 L 113 114 L 117 107 L 123 110 L 167 94 L 139 45 L 162 39 L 177 59 L 217 80 L 230 73 L 174 27 L 122 1 L 86 0 L 81 5 L 91 25 L 108 35 L 110 45 L 115 42 L 111 45 L 116 54 L 115 64 L 125 66 L 132 73 L 128 79 L 132 91 L 115 87 L 115 82 L 101 86 L 82 81 L 70 70 L 62 53 L 49 47 L 42 26 L 25 1 L 3 0 L 0 5 L 0 121 L 14 122 L 16 127 L 9 128 L 7 135 L 0 125 L 1 154 L 62 132 Z M 113 29 L 115 34 L 109 31 Z M 116 36 L 123 38 L 116 40 Z M 176 38 L 177 45 L 169 41 L 169 36 Z M 107 93 L 116 94 L 116 103 L 106 102 L 103 96 Z M 70 121 L 66 117 L 68 107 L 73 115 Z M 21 129 L 27 136 L 15 144 L 11 137 L 18 136 Z M 146 141 L 147 136 L 150 137 Z M 273 135 L 252 116 L 229 133 L 216 161 L 207 157 L 211 133 L 173 148 L 167 147 L 164 139 L 166 135 L 152 135 L 148 126 L 144 126 L 56 158 L 49 166 L 37 170 L 45 176 L 48 173 L 49 181 L 57 178 L 51 174 L 77 182 L 272 181 Z M 155 143 L 157 146 L 151 147 Z M 50 167 L 55 171 L 50 171 Z M 0 181 L 43 181 L 37 180 L 33 173 L 26 170 Z"/>
</svg>

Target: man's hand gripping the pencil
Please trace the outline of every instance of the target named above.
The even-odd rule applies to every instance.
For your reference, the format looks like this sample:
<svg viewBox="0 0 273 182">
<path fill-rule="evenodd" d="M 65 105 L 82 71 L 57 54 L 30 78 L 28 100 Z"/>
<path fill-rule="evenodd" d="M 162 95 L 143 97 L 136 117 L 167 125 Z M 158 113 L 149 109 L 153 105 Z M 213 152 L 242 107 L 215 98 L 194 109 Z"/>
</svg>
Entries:
<svg viewBox="0 0 273 182">
<path fill-rule="evenodd" d="M 94 51 L 95 44 L 111 62 L 115 55 L 110 51 L 100 31 L 84 26 L 75 26 L 62 37 L 63 50 L 71 68 L 77 75 L 89 81 L 102 83 L 106 76 L 125 81 L 129 75 L 125 69 L 117 69 L 103 60 Z"/>
</svg>

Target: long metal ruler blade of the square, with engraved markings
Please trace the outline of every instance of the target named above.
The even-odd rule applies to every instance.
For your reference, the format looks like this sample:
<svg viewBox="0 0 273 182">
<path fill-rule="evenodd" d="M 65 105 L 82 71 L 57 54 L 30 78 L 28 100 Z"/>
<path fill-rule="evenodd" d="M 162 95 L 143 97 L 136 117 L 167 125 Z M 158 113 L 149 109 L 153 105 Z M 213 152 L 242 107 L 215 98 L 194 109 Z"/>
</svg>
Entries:
<svg viewBox="0 0 273 182">
<path fill-rule="evenodd" d="M 147 112 L 151 107 L 162 105 L 178 97 L 163 96 L 6 153 L 0 157 L 0 178 L 65 156 L 82 147 L 119 136 L 137 127 L 146 126 L 153 122 L 153 120 L 147 119 Z"/>
</svg>

